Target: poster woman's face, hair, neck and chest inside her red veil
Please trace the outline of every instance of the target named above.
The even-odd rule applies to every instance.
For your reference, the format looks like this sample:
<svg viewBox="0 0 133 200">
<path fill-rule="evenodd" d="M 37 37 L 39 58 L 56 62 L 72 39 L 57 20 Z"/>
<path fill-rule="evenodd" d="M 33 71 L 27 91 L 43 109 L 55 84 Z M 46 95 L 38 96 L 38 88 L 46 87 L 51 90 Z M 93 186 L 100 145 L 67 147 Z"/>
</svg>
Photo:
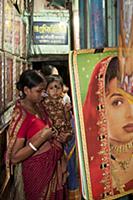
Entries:
<svg viewBox="0 0 133 200">
<path fill-rule="evenodd" d="M 110 61 L 105 76 L 105 107 L 115 192 L 133 188 L 133 101 L 118 88 L 119 62 Z M 115 76 L 115 73 L 117 76 Z"/>
</svg>

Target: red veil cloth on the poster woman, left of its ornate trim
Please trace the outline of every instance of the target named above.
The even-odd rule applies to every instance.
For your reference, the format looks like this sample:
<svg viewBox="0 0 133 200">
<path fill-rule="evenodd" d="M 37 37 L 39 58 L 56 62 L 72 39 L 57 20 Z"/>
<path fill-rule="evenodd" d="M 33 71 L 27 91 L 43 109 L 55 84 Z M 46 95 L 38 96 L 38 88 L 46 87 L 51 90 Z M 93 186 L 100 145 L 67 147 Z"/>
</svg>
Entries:
<svg viewBox="0 0 133 200">
<path fill-rule="evenodd" d="M 98 136 L 100 134 L 99 126 L 99 113 L 97 106 L 99 105 L 97 92 L 98 88 L 98 74 L 102 68 L 102 63 L 107 61 L 108 58 L 100 61 L 93 71 L 91 80 L 88 86 L 88 93 L 83 105 L 84 124 L 86 131 L 88 158 L 90 165 L 90 176 L 92 194 L 95 200 L 100 200 L 103 197 L 104 184 L 102 183 L 103 170 L 101 169 L 102 157 L 99 154 L 101 146 Z M 106 65 L 107 67 L 107 65 Z M 105 70 L 106 71 L 106 70 Z M 102 77 L 104 79 L 104 75 Z M 108 169 L 108 174 L 110 173 Z"/>
</svg>

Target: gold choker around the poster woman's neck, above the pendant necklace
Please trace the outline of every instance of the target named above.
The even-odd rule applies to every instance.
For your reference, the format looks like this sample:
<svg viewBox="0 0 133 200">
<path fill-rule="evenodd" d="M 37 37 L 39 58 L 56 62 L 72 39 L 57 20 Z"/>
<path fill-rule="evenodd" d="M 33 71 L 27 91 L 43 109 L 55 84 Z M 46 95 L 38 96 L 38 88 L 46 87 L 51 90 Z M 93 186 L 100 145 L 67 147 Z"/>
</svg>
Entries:
<svg viewBox="0 0 133 200">
<path fill-rule="evenodd" d="M 131 149 L 133 149 L 133 141 L 130 141 L 130 142 L 128 142 L 126 144 L 122 144 L 122 145 L 110 144 L 111 152 L 115 152 L 115 153 L 125 153 Z"/>
</svg>

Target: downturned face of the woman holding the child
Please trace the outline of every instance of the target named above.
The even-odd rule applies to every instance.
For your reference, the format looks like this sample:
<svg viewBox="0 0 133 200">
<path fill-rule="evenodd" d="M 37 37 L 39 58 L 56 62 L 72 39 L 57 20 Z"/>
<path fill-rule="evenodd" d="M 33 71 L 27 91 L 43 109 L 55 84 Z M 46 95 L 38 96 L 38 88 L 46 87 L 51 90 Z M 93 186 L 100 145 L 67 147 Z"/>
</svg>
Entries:
<svg viewBox="0 0 133 200">
<path fill-rule="evenodd" d="M 42 93 L 44 93 L 45 84 L 40 83 L 38 86 L 32 87 L 31 89 L 25 88 L 26 98 L 33 102 L 39 103 L 42 100 Z"/>
</svg>

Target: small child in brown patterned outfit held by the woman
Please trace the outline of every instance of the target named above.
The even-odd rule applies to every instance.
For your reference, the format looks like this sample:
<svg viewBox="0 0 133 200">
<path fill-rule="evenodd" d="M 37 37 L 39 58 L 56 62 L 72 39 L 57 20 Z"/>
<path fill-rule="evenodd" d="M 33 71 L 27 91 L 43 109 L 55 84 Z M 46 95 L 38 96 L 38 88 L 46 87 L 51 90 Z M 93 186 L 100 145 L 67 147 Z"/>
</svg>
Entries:
<svg viewBox="0 0 133 200">
<path fill-rule="evenodd" d="M 64 103 L 63 93 L 63 80 L 60 75 L 50 75 L 46 77 L 46 95 L 43 99 L 43 106 L 48 113 L 52 125 L 55 128 L 57 135 L 60 132 L 73 135 L 70 116 L 70 103 Z"/>
</svg>

